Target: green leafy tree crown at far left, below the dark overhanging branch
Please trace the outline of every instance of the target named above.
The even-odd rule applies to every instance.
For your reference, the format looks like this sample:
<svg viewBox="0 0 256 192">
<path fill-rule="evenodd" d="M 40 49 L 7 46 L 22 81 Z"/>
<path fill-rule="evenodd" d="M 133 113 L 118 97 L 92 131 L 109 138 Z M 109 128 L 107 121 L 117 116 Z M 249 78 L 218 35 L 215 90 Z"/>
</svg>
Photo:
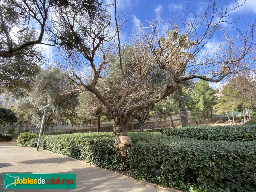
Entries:
<svg viewBox="0 0 256 192">
<path fill-rule="evenodd" d="M 15 26 L 18 27 L 17 25 Z M 18 44 L 34 41 L 37 38 L 36 28 L 28 28 L 16 37 Z M 17 44 L 14 43 L 15 45 Z M 0 47 L 1 51 L 3 50 Z M 44 64 L 43 52 L 42 48 L 33 45 L 24 49 L 24 54 L 14 55 L 11 58 L 0 57 L 0 92 L 7 90 L 8 92 L 12 92 L 17 98 L 27 96 L 26 92 L 20 91 L 26 90 L 30 92 L 32 90 L 35 76 L 40 72 L 40 66 Z"/>
</svg>

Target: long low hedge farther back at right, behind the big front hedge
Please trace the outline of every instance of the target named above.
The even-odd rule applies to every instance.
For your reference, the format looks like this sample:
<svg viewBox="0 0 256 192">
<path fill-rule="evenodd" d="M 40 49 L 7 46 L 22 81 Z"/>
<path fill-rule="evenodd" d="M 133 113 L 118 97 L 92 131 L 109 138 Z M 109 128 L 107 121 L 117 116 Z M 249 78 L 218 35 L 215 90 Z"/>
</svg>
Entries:
<svg viewBox="0 0 256 192">
<path fill-rule="evenodd" d="M 198 140 L 256 141 L 256 125 L 241 126 L 189 126 L 148 130 L 168 136 Z"/>
</svg>

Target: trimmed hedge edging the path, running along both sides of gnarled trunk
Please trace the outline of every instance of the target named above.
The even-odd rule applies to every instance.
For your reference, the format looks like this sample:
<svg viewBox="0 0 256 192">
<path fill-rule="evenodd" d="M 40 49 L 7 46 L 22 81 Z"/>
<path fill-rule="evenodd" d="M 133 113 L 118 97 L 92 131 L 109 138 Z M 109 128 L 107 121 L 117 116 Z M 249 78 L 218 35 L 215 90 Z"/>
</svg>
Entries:
<svg viewBox="0 0 256 192">
<path fill-rule="evenodd" d="M 18 144 L 36 147 L 37 138 L 22 133 Z M 30 134 L 32 135 L 32 134 Z M 26 137 L 30 137 L 26 140 Z M 200 141 L 161 133 L 129 133 L 127 159 L 113 147 L 112 133 L 43 136 L 40 148 L 112 170 L 128 169 L 141 180 L 196 191 L 255 191 L 256 142 Z M 161 175 L 152 175 L 156 168 Z"/>
</svg>

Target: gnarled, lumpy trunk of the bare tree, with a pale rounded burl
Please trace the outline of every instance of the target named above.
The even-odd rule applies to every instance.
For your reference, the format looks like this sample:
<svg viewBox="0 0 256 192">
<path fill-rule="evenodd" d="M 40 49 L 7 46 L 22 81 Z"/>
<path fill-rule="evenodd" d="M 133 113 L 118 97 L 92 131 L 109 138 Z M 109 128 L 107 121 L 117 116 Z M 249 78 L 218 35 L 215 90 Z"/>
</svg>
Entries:
<svg viewBox="0 0 256 192">
<path fill-rule="evenodd" d="M 123 116 L 120 116 L 115 117 L 113 124 L 113 134 L 116 135 L 114 147 L 117 148 L 124 157 L 127 156 L 127 149 L 132 144 L 132 140 L 128 137 L 127 133 L 128 122 L 124 122 Z"/>
</svg>

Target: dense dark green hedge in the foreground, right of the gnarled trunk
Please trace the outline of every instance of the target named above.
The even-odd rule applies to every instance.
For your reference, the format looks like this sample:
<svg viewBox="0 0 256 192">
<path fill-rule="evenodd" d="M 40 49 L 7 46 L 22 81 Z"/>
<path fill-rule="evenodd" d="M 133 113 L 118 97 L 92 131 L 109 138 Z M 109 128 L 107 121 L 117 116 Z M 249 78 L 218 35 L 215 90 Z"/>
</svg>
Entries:
<svg viewBox="0 0 256 192">
<path fill-rule="evenodd" d="M 199 141 L 177 137 L 133 143 L 130 173 L 161 186 L 203 191 L 255 191 L 256 143 Z M 152 169 L 162 175 L 152 177 Z"/>
</svg>

